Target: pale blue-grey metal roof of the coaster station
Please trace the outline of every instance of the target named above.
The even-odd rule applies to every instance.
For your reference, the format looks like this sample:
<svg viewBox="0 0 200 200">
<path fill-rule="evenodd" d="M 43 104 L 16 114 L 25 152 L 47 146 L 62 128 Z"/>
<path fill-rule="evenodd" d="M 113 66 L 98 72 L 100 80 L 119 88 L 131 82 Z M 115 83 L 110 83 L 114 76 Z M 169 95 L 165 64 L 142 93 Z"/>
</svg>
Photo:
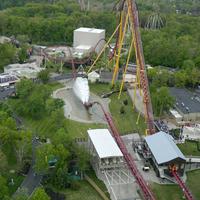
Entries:
<svg viewBox="0 0 200 200">
<path fill-rule="evenodd" d="M 177 147 L 171 135 L 160 131 L 145 137 L 145 141 L 158 164 L 167 163 L 177 158 L 185 161 L 185 156 Z"/>
</svg>

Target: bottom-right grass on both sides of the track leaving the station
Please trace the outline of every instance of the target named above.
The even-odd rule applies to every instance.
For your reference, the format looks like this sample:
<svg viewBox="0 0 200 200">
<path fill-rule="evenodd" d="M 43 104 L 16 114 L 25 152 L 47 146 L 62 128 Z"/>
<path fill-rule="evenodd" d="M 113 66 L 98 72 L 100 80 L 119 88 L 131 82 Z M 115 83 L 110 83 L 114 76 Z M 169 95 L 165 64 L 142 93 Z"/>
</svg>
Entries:
<svg viewBox="0 0 200 200">
<path fill-rule="evenodd" d="M 187 173 L 187 186 L 194 195 L 195 199 L 200 199 L 200 170 Z M 183 193 L 177 185 L 152 185 L 153 192 L 159 200 L 182 200 Z"/>
</svg>

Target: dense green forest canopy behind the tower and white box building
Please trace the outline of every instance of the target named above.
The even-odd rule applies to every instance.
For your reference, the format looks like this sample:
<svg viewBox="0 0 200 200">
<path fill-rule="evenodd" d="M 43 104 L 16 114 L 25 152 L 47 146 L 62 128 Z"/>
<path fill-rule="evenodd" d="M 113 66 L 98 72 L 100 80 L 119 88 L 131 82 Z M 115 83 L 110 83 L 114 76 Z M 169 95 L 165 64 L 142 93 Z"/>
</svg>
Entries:
<svg viewBox="0 0 200 200">
<path fill-rule="evenodd" d="M 184 63 L 191 63 L 191 66 L 200 67 L 200 16 L 177 14 L 172 4 L 164 9 L 162 4 L 166 5 L 166 1 L 137 1 L 146 63 L 173 68 L 182 68 Z M 17 2 L 23 6 L 0 12 L 0 35 L 14 35 L 16 38 L 23 35 L 37 44 L 72 45 L 73 30 L 81 26 L 106 29 L 108 38 L 119 21 L 116 11 L 81 11 L 80 5 L 74 0 L 43 0 L 40 3 L 36 0 L 31 3 L 18 0 L 15 5 L 18 5 Z M 174 3 L 177 7 L 178 2 Z M 188 3 L 182 5 L 189 10 Z M 159 13 L 164 27 L 146 29 L 149 16 L 155 13 Z"/>
</svg>

